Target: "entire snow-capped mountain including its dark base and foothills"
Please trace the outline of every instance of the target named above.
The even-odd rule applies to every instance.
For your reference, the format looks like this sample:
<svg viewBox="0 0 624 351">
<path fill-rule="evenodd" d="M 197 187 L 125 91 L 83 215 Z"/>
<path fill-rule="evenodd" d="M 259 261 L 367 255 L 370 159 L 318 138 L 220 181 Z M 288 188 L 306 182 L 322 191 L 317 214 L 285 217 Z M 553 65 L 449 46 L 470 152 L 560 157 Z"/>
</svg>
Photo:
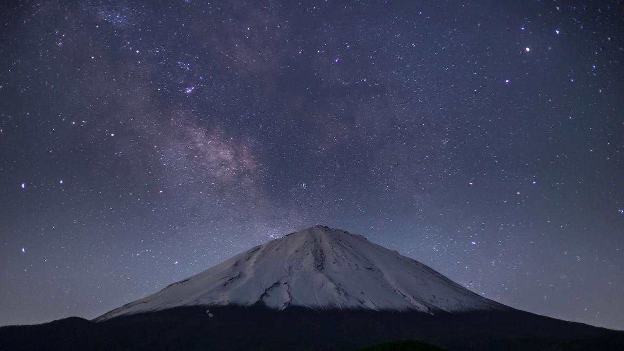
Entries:
<svg viewBox="0 0 624 351">
<path fill-rule="evenodd" d="M 512 309 L 361 235 L 316 225 L 94 320 L 0 327 L 0 345 L 25 351 L 621 351 L 624 332 Z"/>
</svg>

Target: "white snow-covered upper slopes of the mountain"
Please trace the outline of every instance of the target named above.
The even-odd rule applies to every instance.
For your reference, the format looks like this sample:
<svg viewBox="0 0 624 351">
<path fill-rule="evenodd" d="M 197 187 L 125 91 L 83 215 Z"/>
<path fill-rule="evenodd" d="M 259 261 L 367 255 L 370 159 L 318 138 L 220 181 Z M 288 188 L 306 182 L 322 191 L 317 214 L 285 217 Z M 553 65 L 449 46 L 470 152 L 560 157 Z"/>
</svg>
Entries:
<svg viewBox="0 0 624 351">
<path fill-rule="evenodd" d="M 278 310 L 507 308 L 361 235 L 316 225 L 256 246 L 96 320 L 184 305 L 258 302 Z"/>
</svg>

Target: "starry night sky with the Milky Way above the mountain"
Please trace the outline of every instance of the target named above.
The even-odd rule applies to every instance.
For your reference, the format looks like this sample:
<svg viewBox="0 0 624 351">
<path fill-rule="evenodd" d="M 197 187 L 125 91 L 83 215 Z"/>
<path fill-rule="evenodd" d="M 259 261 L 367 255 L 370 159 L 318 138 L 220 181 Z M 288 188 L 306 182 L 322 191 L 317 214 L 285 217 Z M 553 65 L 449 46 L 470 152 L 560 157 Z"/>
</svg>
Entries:
<svg viewBox="0 0 624 351">
<path fill-rule="evenodd" d="M 624 329 L 620 1 L 4 1 L 0 325 L 324 224 Z"/>
</svg>

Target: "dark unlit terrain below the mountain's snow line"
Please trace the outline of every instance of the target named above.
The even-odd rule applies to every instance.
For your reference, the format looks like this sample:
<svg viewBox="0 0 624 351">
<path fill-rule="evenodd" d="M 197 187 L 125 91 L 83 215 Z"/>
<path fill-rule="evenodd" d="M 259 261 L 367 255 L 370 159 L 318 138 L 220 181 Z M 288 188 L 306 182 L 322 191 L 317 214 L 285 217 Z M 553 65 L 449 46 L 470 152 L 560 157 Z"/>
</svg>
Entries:
<svg viewBox="0 0 624 351">
<path fill-rule="evenodd" d="M 0 349 L 358 350 L 419 340 L 449 351 L 624 350 L 624 332 L 517 310 L 427 315 L 258 306 L 210 307 L 210 314 L 202 307 L 178 307 L 104 322 L 71 317 L 1 327 Z"/>
</svg>

